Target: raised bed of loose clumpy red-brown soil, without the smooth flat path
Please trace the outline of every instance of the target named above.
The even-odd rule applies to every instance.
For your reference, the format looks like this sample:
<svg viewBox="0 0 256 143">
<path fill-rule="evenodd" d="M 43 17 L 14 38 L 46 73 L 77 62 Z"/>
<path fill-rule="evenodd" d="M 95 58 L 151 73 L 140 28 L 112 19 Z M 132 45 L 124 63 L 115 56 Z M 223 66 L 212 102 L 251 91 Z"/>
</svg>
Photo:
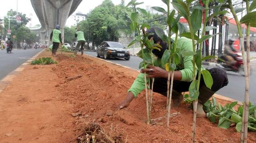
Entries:
<svg viewBox="0 0 256 143">
<path fill-rule="evenodd" d="M 165 119 L 147 125 L 145 93 L 131 102 L 128 108 L 116 110 L 126 97 L 127 89 L 133 83 L 137 71 L 106 63 L 88 56 L 57 57 L 58 64 L 52 68 L 59 78 L 56 89 L 62 93 L 62 100 L 74 104 L 73 112 L 81 113 L 74 117 L 74 133 L 79 140 L 84 128 L 93 123 L 112 139 L 133 143 L 189 142 L 192 128 L 192 110 L 188 104 L 173 108 L 170 128 L 166 129 Z M 70 80 L 72 77 L 82 77 Z M 223 101 L 221 101 L 223 103 Z M 166 97 L 154 93 L 152 118 L 165 116 Z M 239 142 L 240 133 L 236 129 L 220 129 L 207 118 L 197 119 L 196 136 L 198 142 Z M 83 135 L 84 136 L 84 135 Z M 88 136 L 88 135 L 87 135 Z M 97 136 L 96 136 L 97 138 Z M 249 132 L 249 143 L 256 142 L 256 133 Z"/>
</svg>

